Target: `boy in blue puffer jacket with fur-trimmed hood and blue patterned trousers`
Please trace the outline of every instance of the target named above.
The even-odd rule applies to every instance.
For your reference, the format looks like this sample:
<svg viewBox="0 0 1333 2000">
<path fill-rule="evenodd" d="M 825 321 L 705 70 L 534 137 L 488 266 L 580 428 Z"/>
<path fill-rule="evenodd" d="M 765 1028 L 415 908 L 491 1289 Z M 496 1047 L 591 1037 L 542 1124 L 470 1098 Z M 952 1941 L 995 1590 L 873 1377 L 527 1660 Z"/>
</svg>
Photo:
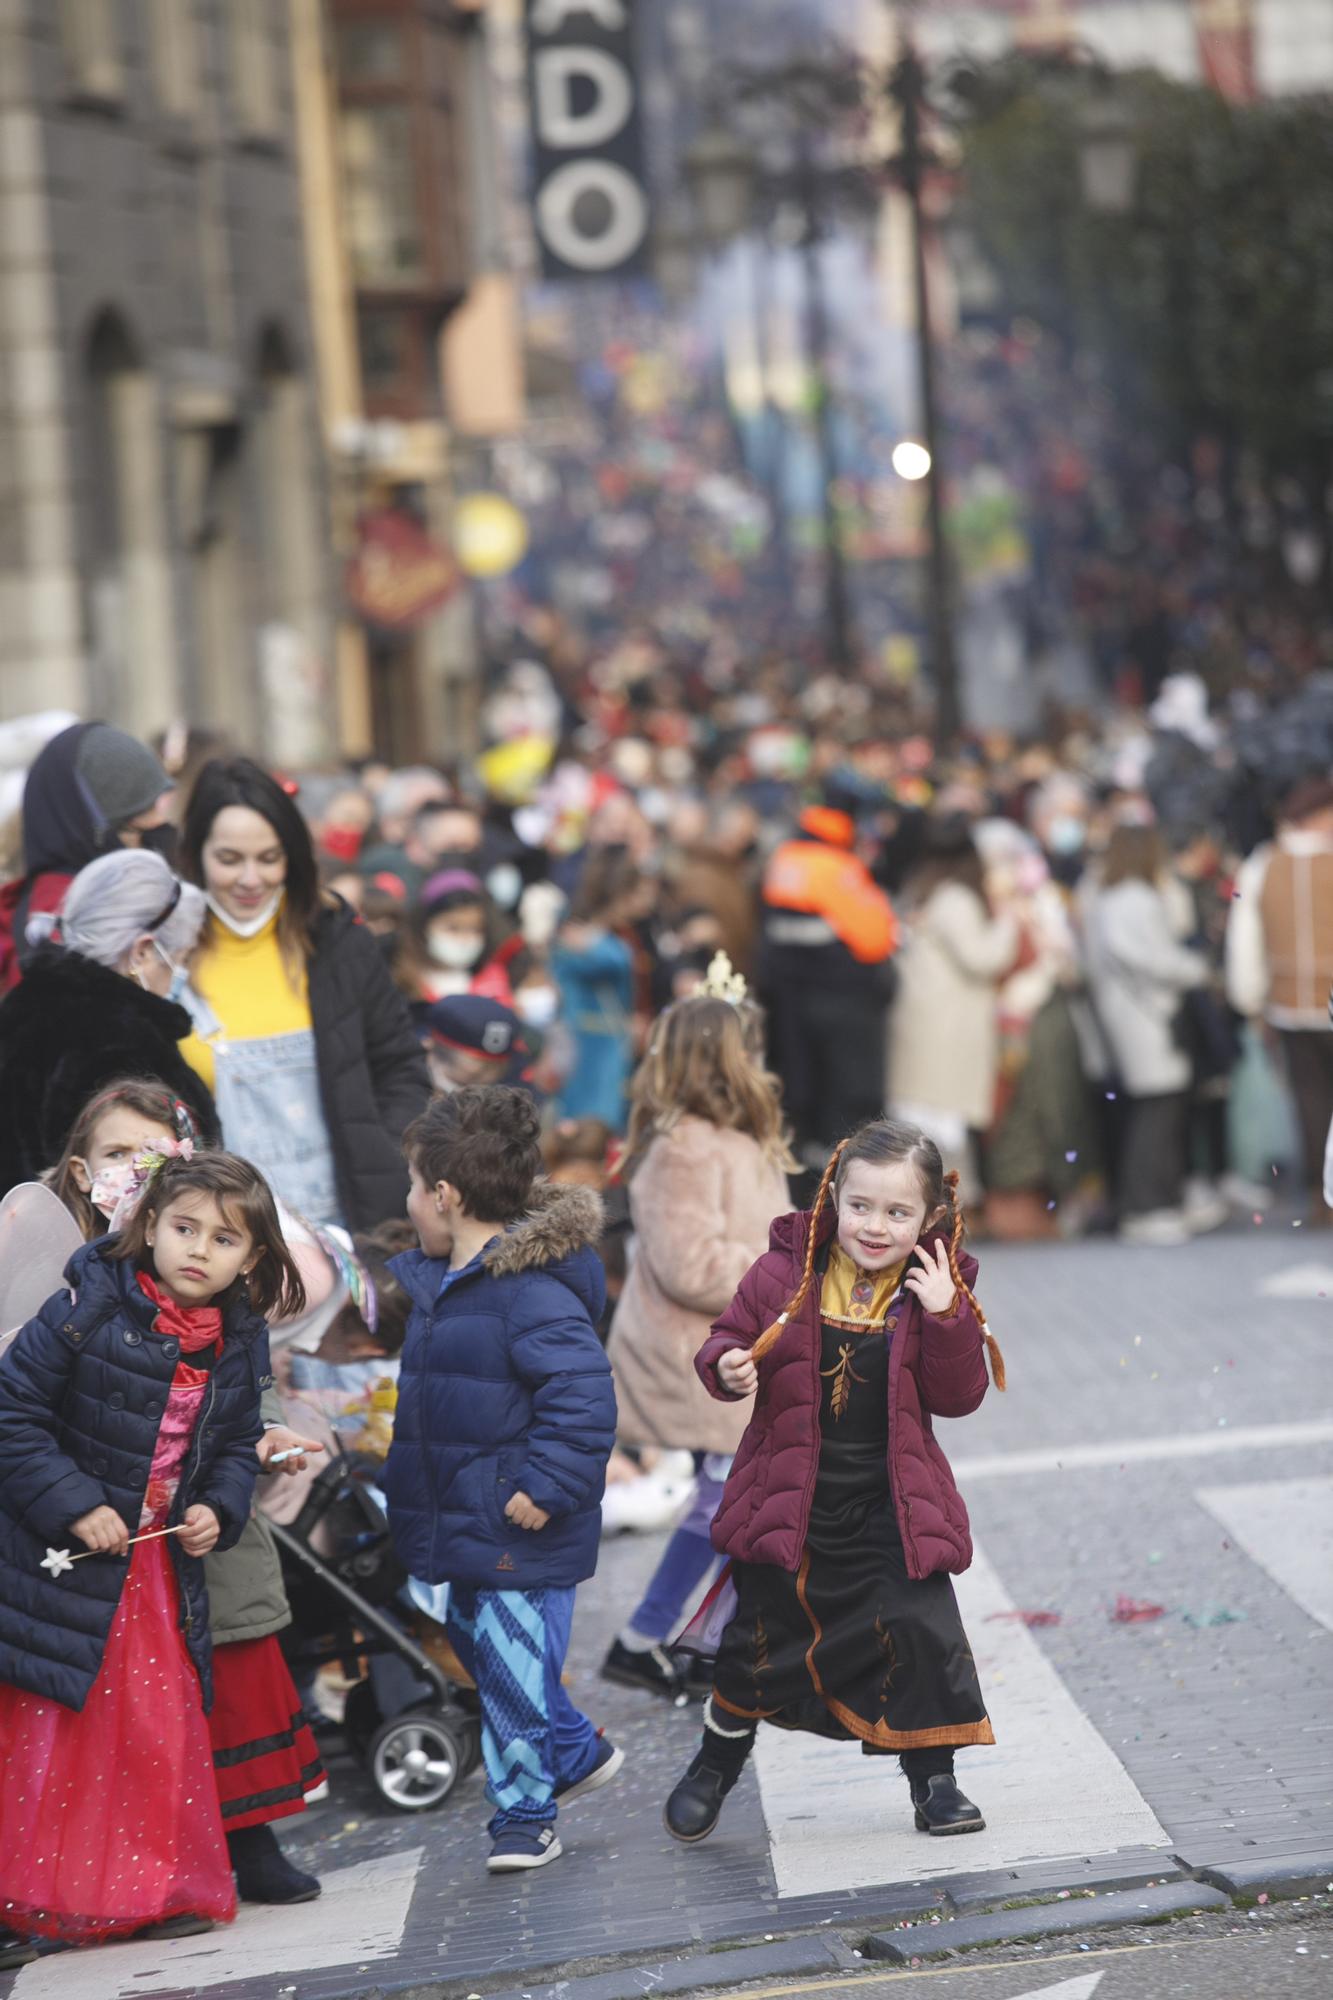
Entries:
<svg viewBox="0 0 1333 2000">
<path fill-rule="evenodd" d="M 436 1098 L 404 1150 L 420 1250 L 392 1262 L 412 1318 L 388 1522 L 412 1576 L 450 1586 L 496 1806 L 486 1866 L 542 1868 L 560 1854 L 556 1808 L 624 1762 L 560 1686 L 616 1430 L 596 1338 L 600 1202 L 536 1184 L 538 1114 L 522 1090 Z"/>
</svg>

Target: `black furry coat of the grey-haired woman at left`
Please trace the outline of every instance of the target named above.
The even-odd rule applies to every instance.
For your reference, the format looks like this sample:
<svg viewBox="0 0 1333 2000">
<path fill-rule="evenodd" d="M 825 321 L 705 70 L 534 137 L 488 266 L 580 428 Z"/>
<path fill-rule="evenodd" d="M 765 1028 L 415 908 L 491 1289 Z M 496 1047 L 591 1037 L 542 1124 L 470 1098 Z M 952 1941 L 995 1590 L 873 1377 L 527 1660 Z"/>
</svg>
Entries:
<svg viewBox="0 0 1333 2000">
<path fill-rule="evenodd" d="M 54 1166 L 84 1104 L 122 1076 L 150 1076 L 188 1104 L 208 1142 L 218 1118 L 180 1054 L 182 1006 L 80 952 L 44 946 L 0 1000 L 0 1194 Z"/>
</svg>

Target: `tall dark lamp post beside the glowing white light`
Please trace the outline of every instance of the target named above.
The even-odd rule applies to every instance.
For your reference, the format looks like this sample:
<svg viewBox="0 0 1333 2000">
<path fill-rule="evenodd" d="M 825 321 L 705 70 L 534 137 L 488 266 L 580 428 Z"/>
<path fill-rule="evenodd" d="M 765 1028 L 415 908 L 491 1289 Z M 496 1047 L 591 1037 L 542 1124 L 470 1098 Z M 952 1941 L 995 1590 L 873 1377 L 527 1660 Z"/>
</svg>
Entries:
<svg viewBox="0 0 1333 2000">
<path fill-rule="evenodd" d="M 957 734 L 963 720 L 959 654 L 953 618 L 953 566 L 945 530 L 945 454 L 941 448 L 939 398 L 935 382 L 935 340 L 931 336 L 931 280 L 923 180 L 927 148 L 923 134 L 925 68 L 907 44 L 889 80 L 889 96 L 899 110 L 899 186 L 907 196 L 913 240 L 913 292 L 917 300 L 917 374 L 921 386 L 921 438 L 929 454 L 927 488 L 927 628 L 931 634 L 931 676 L 935 682 L 935 728 L 941 740 Z"/>
</svg>

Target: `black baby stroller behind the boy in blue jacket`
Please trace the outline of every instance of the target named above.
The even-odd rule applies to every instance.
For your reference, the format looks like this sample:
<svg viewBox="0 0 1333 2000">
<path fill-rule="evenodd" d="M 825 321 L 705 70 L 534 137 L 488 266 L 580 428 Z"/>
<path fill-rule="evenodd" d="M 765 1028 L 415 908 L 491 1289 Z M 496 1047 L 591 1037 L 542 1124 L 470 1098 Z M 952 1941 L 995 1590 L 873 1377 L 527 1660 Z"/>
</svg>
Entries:
<svg viewBox="0 0 1333 2000">
<path fill-rule="evenodd" d="M 376 1460 L 344 1452 L 290 1526 L 270 1520 L 292 1606 L 284 1652 L 298 1684 L 330 1662 L 356 1680 L 342 1718 L 348 1748 L 386 1806 L 428 1812 L 476 1768 L 480 1712 L 432 1656 L 448 1658 L 440 1628 L 408 1596 L 378 1474 Z"/>
</svg>

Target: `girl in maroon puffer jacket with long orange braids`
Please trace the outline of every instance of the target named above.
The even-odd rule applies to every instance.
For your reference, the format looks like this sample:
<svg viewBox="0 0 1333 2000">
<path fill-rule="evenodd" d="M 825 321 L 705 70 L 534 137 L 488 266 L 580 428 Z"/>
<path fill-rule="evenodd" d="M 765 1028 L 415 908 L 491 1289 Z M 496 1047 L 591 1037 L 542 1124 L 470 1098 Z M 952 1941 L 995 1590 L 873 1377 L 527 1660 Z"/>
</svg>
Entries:
<svg viewBox="0 0 1333 2000">
<path fill-rule="evenodd" d="M 967 1508 L 931 1418 L 977 1408 L 987 1350 L 997 1388 L 1005 1370 L 961 1236 L 935 1142 L 863 1126 L 699 1350 L 713 1396 L 757 1402 L 713 1522 L 735 1610 L 711 1648 L 723 1584 L 685 1640 L 717 1670 L 666 1802 L 677 1840 L 713 1832 L 759 1722 L 897 1754 L 921 1832 L 985 1826 L 953 1778 L 955 1748 L 995 1736 L 949 1582 L 973 1558 Z"/>
</svg>

